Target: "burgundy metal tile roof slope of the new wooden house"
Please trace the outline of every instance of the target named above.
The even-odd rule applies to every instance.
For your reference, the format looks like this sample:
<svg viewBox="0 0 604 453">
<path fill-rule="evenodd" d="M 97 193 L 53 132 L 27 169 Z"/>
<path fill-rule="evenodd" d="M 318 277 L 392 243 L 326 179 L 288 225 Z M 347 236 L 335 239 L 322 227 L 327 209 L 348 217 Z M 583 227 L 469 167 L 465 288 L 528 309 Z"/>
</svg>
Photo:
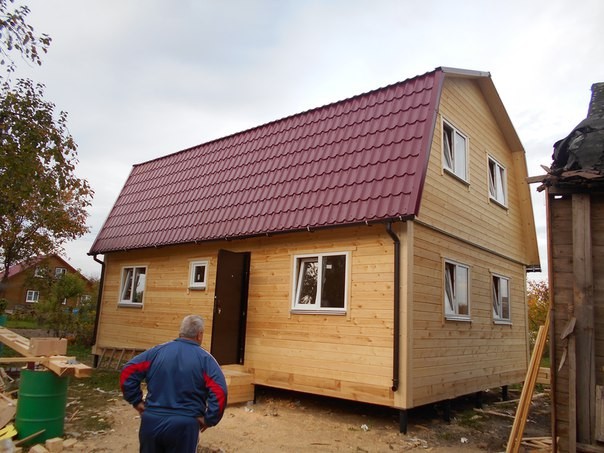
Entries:
<svg viewBox="0 0 604 453">
<path fill-rule="evenodd" d="M 416 215 L 443 77 L 135 165 L 90 254 Z"/>
</svg>

